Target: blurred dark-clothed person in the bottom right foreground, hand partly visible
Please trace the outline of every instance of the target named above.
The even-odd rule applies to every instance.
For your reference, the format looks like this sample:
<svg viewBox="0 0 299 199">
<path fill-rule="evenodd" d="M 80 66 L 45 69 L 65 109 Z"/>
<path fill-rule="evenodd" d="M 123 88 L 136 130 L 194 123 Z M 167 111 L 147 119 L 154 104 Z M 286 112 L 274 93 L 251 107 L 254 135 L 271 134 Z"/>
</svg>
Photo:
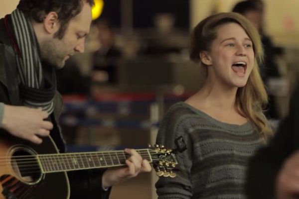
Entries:
<svg viewBox="0 0 299 199">
<path fill-rule="evenodd" d="M 299 198 L 299 89 L 290 102 L 290 113 L 280 123 L 269 144 L 249 164 L 248 199 Z"/>
</svg>

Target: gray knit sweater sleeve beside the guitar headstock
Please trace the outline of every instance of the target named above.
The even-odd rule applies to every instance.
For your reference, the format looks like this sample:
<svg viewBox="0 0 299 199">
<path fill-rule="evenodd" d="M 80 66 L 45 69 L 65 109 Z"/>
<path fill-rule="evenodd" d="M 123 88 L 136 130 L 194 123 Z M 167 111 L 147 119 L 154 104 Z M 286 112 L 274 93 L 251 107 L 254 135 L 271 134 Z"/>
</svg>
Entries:
<svg viewBox="0 0 299 199">
<path fill-rule="evenodd" d="M 170 109 L 159 127 L 157 144 L 163 144 L 167 149 L 175 149 L 177 148 L 175 140 L 181 137 L 187 145 L 187 150 L 176 154 L 178 162 L 176 171 L 174 171 L 176 177 L 160 177 L 156 182 L 158 199 L 190 199 L 192 197 L 190 181 L 192 146 L 182 123 L 180 112 Z"/>
</svg>

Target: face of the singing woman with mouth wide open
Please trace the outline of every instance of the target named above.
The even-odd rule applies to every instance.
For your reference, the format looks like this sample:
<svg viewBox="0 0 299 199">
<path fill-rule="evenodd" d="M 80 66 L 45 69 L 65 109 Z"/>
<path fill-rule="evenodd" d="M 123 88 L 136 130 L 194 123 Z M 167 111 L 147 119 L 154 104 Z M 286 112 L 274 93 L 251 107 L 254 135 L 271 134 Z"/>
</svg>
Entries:
<svg viewBox="0 0 299 199">
<path fill-rule="evenodd" d="M 205 64 L 213 84 L 244 87 L 254 65 L 253 43 L 245 30 L 233 22 L 218 26 Z"/>
</svg>

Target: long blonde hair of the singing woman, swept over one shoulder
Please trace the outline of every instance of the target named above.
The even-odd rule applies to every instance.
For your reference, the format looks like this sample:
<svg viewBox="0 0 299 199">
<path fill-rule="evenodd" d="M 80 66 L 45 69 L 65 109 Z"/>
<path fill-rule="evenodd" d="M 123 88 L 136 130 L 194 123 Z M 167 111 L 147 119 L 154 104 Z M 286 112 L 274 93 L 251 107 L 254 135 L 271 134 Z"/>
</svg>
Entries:
<svg viewBox="0 0 299 199">
<path fill-rule="evenodd" d="M 255 54 L 254 66 L 247 84 L 238 88 L 237 91 L 237 109 L 256 125 L 265 138 L 268 138 L 272 134 L 272 129 L 263 113 L 263 105 L 268 103 L 268 95 L 259 72 L 259 64 L 263 62 L 264 51 L 259 32 L 254 25 L 244 16 L 234 12 L 218 13 L 203 19 L 192 31 L 190 59 L 195 63 L 200 63 L 207 71 L 207 66 L 200 60 L 200 52 L 211 50 L 212 42 L 217 38 L 217 27 L 232 22 L 239 24 L 248 34 Z"/>
</svg>

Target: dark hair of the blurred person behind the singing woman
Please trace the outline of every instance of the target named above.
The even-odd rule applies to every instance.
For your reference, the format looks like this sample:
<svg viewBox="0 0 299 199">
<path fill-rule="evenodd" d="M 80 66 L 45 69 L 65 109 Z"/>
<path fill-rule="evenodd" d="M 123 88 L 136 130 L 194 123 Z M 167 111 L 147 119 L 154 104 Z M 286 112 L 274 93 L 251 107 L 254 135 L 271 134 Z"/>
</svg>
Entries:
<svg viewBox="0 0 299 199">
<path fill-rule="evenodd" d="M 263 2 L 261 0 L 243 0 L 238 2 L 232 11 L 244 15 L 245 12 L 251 10 L 263 11 Z"/>
</svg>

